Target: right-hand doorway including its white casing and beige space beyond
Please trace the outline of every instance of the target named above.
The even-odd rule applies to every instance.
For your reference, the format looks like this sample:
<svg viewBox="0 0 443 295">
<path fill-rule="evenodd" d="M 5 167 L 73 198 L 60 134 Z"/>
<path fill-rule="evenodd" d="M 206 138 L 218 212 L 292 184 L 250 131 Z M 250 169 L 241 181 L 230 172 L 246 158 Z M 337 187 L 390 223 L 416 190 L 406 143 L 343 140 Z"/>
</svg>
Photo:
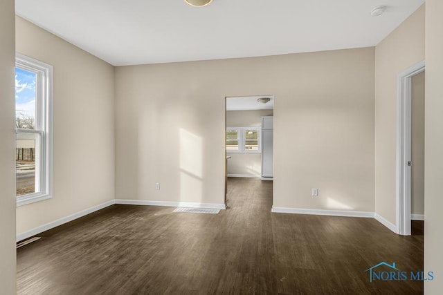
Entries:
<svg viewBox="0 0 443 295">
<path fill-rule="evenodd" d="M 422 232 L 424 220 L 424 71 L 422 61 L 397 79 L 397 232 L 404 236 Z"/>
</svg>

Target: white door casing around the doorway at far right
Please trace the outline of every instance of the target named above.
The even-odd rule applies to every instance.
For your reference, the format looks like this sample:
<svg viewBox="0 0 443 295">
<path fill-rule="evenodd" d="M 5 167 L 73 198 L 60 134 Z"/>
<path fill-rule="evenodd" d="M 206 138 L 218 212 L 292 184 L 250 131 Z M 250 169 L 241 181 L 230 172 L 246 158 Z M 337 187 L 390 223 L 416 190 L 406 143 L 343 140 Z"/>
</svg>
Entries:
<svg viewBox="0 0 443 295">
<path fill-rule="evenodd" d="M 397 155 L 396 155 L 396 230 L 410 236 L 410 96 L 411 80 L 422 73 L 425 62 L 411 66 L 397 76 Z M 392 230 L 392 229 L 391 229 Z"/>
</svg>

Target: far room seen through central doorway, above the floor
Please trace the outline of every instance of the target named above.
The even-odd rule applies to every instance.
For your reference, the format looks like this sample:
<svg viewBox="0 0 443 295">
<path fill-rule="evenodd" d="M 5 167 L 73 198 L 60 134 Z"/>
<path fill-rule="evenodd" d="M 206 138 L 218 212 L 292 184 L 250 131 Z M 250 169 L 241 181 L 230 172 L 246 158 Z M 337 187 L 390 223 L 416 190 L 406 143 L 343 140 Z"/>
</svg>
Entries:
<svg viewBox="0 0 443 295">
<path fill-rule="evenodd" d="M 273 95 L 226 97 L 226 179 L 273 180 Z M 269 185 L 269 184 L 268 184 Z"/>
</svg>

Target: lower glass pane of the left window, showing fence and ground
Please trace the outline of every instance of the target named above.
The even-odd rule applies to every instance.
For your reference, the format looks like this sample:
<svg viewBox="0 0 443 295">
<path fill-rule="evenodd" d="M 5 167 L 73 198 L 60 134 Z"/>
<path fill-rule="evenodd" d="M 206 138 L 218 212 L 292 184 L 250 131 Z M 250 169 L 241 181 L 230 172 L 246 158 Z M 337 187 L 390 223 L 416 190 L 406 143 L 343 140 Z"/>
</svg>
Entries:
<svg viewBox="0 0 443 295">
<path fill-rule="evenodd" d="M 38 155 L 38 151 L 36 151 L 38 137 L 39 135 L 35 133 L 17 133 L 15 149 L 17 196 L 37 191 L 35 161 Z"/>
</svg>

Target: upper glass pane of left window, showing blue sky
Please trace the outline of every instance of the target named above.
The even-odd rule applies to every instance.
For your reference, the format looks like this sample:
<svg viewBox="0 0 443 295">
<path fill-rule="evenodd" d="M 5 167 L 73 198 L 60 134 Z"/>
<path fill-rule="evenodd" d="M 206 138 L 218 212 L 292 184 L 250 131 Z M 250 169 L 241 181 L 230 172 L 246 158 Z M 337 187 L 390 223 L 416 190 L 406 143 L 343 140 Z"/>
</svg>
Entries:
<svg viewBox="0 0 443 295">
<path fill-rule="evenodd" d="M 35 129 L 35 83 L 37 75 L 15 68 L 15 128 Z"/>
</svg>

